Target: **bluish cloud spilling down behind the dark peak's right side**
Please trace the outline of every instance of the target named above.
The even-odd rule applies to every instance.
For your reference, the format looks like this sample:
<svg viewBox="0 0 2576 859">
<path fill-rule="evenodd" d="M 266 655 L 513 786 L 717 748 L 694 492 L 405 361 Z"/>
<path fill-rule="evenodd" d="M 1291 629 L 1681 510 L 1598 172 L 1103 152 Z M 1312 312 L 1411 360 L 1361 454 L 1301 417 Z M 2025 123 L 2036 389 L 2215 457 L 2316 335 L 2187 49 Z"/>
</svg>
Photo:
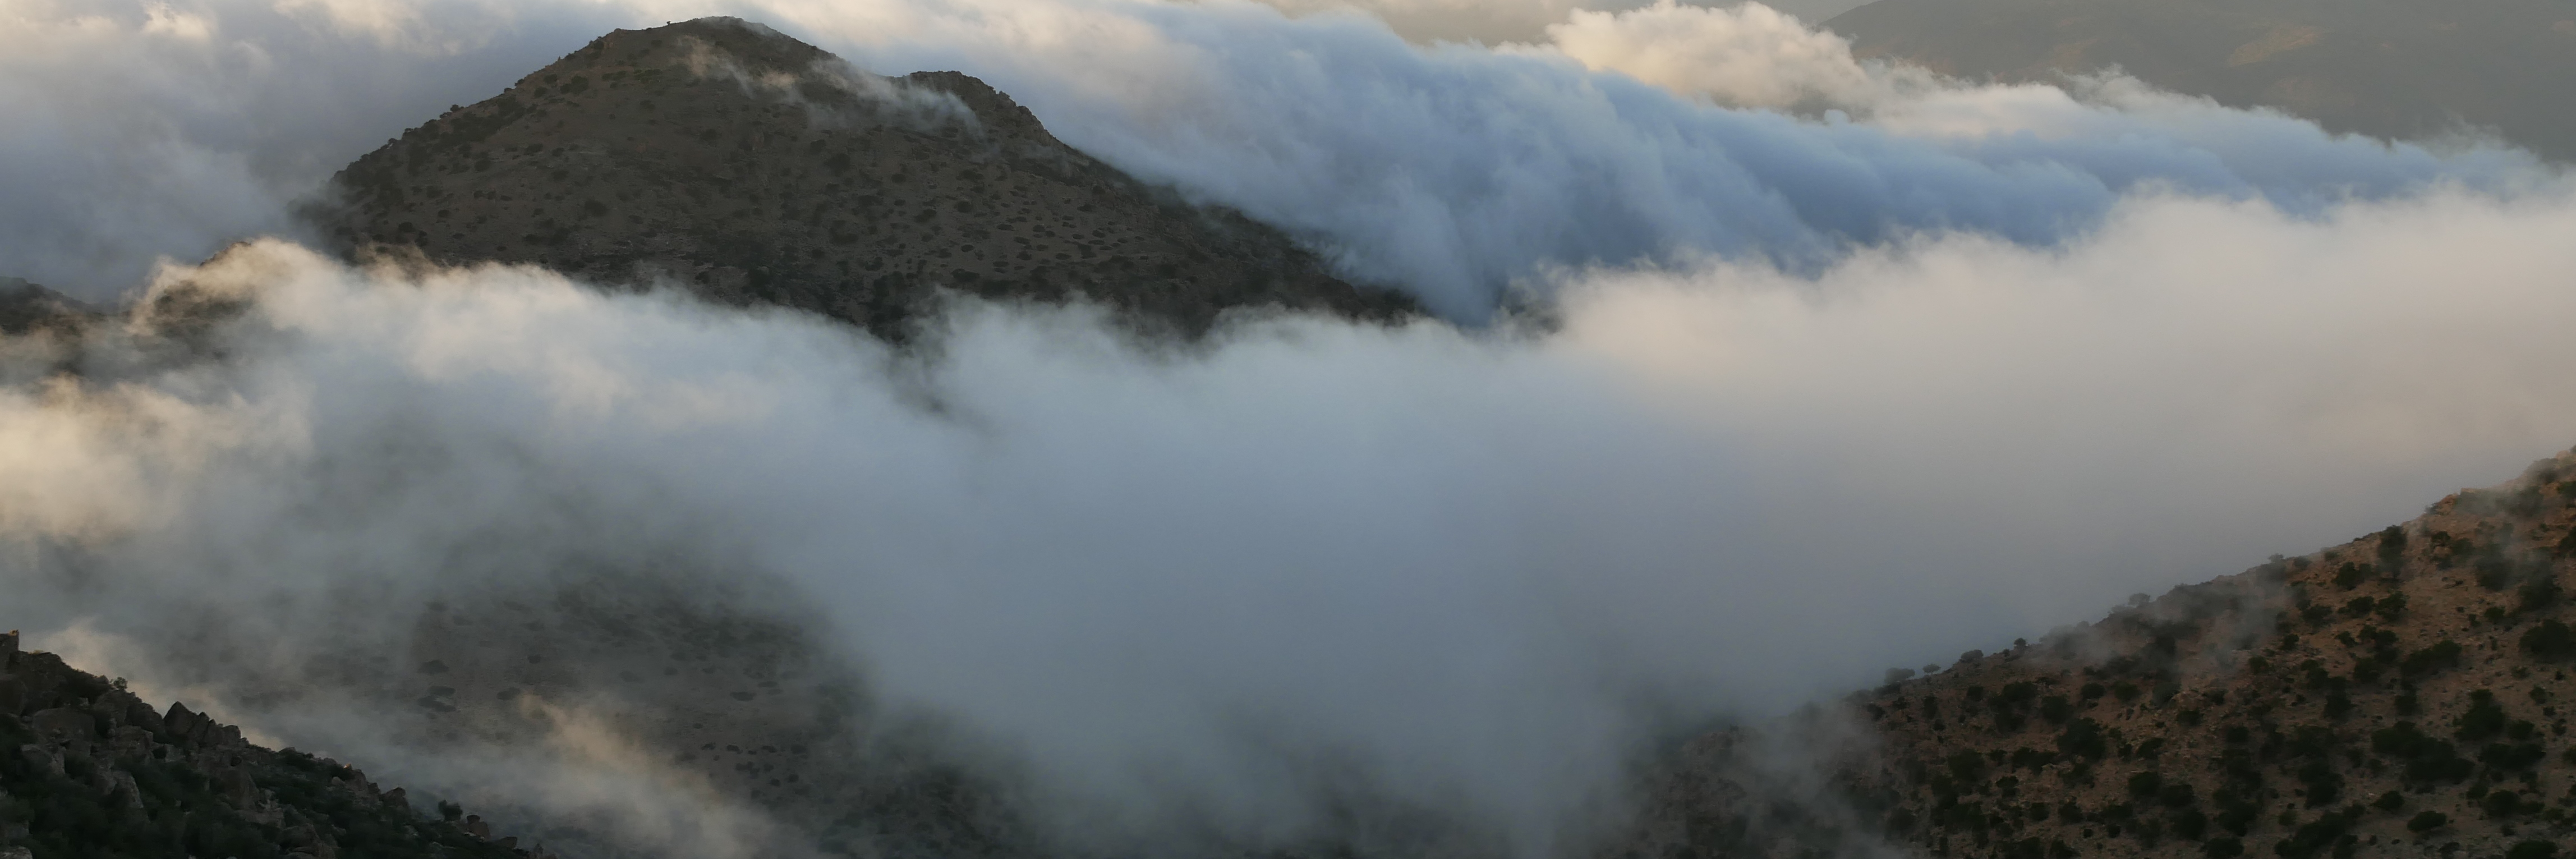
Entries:
<svg viewBox="0 0 2576 859">
<path fill-rule="evenodd" d="M 768 10 L 868 67 L 981 75 L 1074 147 L 1309 235 L 1355 276 L 1461 320 L 1481 320 L 1515 281 L 1543 289 L 1546 266 L 1718 253 L 1814 268 L 1917 230 L 2056 242 L 2156 186 L 2318 212 L 2432 183 L 2558 181 L 2512 150 L 2391 150 L 2123 83 L 2097 103 L 1932 88 L 1878 103 L 1886 121 L 1801 121 L 1553 49 L 1425 49 L 1370 21 L 1239 3 Z M 1754 23 L 1734 13 L 1628 15 L 1662 13 L 1695 18 L 1700 41 L 1790 44 L 1739 41 Z M 1767 67 L 1852 64 L 1811 46 Z"/>
</svg>

